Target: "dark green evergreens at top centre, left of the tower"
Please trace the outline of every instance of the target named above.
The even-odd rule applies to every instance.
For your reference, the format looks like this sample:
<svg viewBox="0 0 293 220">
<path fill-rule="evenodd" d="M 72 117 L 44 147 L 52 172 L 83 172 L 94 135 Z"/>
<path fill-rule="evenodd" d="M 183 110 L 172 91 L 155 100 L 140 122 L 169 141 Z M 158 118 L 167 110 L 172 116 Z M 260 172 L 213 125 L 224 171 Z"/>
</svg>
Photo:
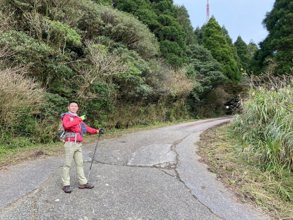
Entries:
<svg viewBox="0 0 293 220">
<path fill-rule="evenodd" d="M 187 11 L 176 7 L 173 0 L 115 0 L 115 8 L 133 14 L 149 27 L 168 64 L 180 67 L 186 63 L 186 44 L 194 41 L 193 29 Z"/>
</svg>

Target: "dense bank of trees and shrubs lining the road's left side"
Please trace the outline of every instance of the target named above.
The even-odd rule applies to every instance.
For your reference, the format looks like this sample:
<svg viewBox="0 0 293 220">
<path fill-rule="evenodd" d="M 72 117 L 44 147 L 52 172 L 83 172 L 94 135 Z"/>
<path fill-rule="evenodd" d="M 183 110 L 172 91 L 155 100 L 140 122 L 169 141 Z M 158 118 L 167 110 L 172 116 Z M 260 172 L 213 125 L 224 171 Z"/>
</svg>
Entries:
<svg viewBox="0 0 293 220">
<path fill-rule="evenodd" d="M 230 97 L 211 98 L 221 65 L 187 56 L 198 45 L 185 7 L 115 2 L 1 1 L 1 154 L 52 142 L 72 99 L 107 129 L 225 114 Z"/>
</svg>

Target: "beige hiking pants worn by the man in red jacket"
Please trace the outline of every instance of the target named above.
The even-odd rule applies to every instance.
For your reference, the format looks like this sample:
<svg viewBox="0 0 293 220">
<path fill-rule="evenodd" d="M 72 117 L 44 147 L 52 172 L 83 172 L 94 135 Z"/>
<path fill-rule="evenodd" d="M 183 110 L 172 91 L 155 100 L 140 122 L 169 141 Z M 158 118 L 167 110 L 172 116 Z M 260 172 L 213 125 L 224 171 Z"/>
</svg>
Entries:
<svg viewBox="0 0 293 220">
<path fill-rule="evenodd" d="M 73 141 L 71 141 L 70 147 L 69 147 L 68 142 L 66 141 L 64 144 L 64 151 L 65 151 L 65 161 L 63 163 L 63 169 L 62 169 L 63 186 L 70 185 L 69 171 L 70 171 L 72 159 L 74 159 L 74 162 L 75 162 L 76 173 L 79 178 L 79 184 L 83 185 L 87 183 L 87 179 L 84 176 L 82 143 L 75 144 Z"/>
</svg>

